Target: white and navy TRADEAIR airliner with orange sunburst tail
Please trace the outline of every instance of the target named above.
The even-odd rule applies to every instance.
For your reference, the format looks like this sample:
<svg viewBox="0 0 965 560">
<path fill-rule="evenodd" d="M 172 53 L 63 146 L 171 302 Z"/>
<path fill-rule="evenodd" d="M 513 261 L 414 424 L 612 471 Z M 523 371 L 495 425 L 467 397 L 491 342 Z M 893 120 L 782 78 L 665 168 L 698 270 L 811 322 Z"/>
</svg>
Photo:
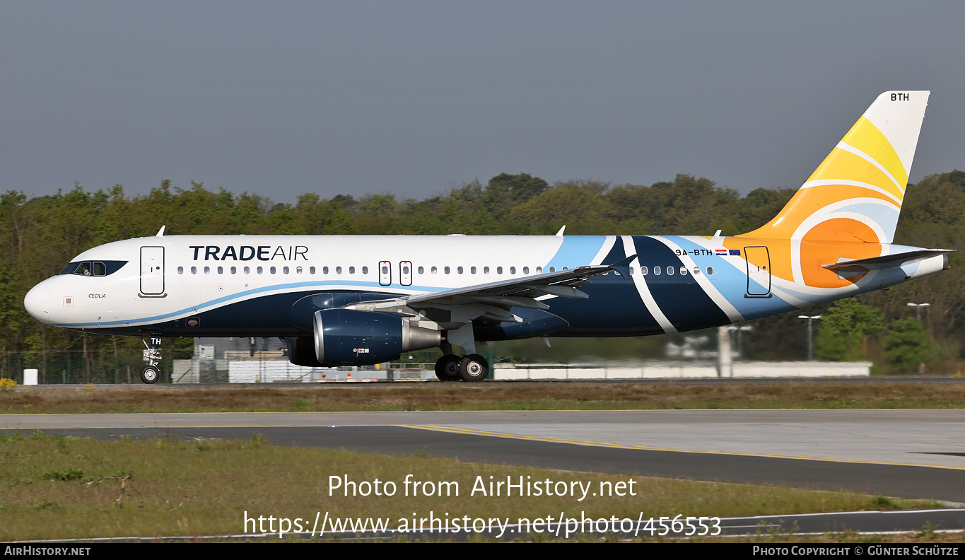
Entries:
<svg viewBox="0 0 965 560">
<path fill-rule="evenodd" d="M 165 236 L 84 251 L 24 298 L 37 320 L 139 336 L 277 336 L 301 366 L 439 348 L 482 381 L 477 342 L 646 336 L 750 321 L 948 269 L 893 243 L 929 92 L 876 98 L 770 222 L 737 236 Z M 548 338 L 545 338 L 548 343 Z M 150 341 L 150 342 L 149 342 Z M 464 355 L 455 353 L 461 347 Z"/>
</svg>

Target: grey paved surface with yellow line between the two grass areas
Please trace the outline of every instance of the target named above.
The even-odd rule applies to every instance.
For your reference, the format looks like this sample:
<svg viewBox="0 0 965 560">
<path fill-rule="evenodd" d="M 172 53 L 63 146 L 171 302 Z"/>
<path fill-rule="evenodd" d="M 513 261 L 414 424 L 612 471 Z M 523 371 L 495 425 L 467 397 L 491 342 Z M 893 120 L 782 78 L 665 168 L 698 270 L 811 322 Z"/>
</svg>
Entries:
<svg viewBox="0 0 965 560">
<path fill-rule="evenodd" d="M 11 414 L 0 429 L 250 438 L 965 503 L 965 410 Z"/>
</svg>

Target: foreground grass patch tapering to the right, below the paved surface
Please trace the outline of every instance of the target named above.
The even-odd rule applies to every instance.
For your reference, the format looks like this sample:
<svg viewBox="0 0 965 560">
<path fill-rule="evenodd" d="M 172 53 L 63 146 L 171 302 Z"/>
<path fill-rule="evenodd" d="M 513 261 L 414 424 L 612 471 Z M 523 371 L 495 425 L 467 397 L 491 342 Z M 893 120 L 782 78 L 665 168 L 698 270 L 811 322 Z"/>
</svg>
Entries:
<svg viewBox="0 0 965 560">
<path fill-rule="evenodd" d="M 797 514 L 915 505 L 853 492 L 666 480 L 629 475 L 561 472 L 523 466 L 278 447 L 249 441 L 173 438 L 114 441 L 0 436 L 0 541 L 121 536 L 237 534 L 243 519 L 302 518 L 644 518 Z M 456 482 L 458 495 L 403 495 L 405 475 L 420 482 Z M 394 496 L 329 495 L 329 477 L 394 482 Z M 484 483 L 522 476 L 531 481 L 633 481 L 637 495 L 483 496 Z M 614 487 L 616 488 L 616 487 Z M 923 504 L 919 504 L 923 505 Z M 931 504 L 933 505 L 933 504 Z M 250 529 L 251 527 L 249 527 Z M 249 531 L 251 532 L 251 531 Z"/>
</svg>

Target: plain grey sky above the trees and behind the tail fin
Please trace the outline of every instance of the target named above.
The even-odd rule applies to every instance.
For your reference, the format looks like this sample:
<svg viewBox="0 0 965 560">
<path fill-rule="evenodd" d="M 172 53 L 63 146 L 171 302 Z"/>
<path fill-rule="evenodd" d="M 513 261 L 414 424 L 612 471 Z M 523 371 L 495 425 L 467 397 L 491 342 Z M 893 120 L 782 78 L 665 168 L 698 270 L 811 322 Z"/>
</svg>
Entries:
<svg viewBox="0 0 965 560">
<path fill-rule="evenodd" d="M 5 0 L 0 191 L 796 187 L 878 94 L 929 89 L 918 181 L 965 167 L 963 21 L 962 2 Z"/>
</svg>

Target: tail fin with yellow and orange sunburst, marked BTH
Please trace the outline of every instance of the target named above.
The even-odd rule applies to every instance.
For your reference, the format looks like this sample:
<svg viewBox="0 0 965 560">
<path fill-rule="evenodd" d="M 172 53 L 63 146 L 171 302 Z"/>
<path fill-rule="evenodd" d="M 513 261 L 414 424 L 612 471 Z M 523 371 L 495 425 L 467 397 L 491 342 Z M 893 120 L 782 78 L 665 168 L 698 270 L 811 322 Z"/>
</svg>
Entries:
<svg viewBox="0 0 965 560">
<path fill-rule="evenodd" d="M 930 92 L 885 92 L 749 238 L 891 243 Z"/>
</svg>

